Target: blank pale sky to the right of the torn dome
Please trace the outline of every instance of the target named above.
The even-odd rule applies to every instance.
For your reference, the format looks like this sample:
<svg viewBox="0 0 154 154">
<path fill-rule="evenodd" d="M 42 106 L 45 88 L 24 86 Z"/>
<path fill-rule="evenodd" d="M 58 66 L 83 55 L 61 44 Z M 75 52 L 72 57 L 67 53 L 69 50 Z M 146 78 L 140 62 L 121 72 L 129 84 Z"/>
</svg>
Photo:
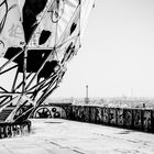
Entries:
<svg viewBox="0 0 154 154">
<path fill-rule="evenodd" d="M 97 0 L 68 66 L 51 97 L 154 97 L 154 0 Z"/>
</svg>

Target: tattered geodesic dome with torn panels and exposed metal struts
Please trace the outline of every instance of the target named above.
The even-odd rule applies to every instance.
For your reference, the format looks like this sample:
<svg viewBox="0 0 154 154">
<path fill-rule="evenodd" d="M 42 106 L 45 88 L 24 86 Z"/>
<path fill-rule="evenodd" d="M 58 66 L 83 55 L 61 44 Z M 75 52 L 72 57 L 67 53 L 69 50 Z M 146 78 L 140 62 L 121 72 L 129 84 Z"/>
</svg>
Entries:
<svg viewBox="0 0 154 154">
<path fill-rule="evenodd" d="M 59 86 L 95 0 L 0 0 L 0 112 L 25 120 Z"/>
</svg>

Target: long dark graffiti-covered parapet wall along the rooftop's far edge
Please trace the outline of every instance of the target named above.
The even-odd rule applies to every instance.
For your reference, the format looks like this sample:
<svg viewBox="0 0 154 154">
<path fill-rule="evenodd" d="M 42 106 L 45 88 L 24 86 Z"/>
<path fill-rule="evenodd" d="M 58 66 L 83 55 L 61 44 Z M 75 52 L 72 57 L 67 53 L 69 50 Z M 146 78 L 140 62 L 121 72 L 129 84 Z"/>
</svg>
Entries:
<svg viewBox="0 0 154 154">
<path fill-rule="evenodd" d="M 67 119 L 154 133 L 154 110 L 69 106 Z"/>
</svg>

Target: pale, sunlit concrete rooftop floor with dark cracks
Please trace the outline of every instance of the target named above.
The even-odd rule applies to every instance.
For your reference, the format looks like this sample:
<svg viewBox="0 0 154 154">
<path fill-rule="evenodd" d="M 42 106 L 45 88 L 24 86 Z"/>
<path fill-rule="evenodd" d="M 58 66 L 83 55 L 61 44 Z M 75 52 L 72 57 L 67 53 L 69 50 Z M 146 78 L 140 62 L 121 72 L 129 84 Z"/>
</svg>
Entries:
<svg viewBox="0 0 154 154">
<path fill-rule="evenodd" d="M 0 140 L 0 154 L 154 154 L 154 134 L 37 119 L 31 134 Z"/>
</svg>

